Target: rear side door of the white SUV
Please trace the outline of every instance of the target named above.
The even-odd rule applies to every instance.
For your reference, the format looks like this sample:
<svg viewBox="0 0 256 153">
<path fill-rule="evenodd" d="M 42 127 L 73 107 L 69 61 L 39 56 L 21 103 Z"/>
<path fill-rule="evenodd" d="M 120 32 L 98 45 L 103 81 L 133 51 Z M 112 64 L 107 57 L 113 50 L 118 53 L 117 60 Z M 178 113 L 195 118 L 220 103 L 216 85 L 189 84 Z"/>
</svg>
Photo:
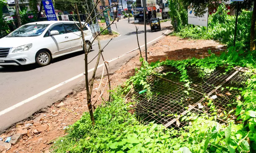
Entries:
<svg viewBox="0 0 256 153">
<path fill-rule="evenodd" d="M 81 38 L 81 32 L 74 23 L 64 23 L 67 36 L 71 44 L 71 51 L 73 50 L 82 50 L 83 41 Z"/>
</svg>

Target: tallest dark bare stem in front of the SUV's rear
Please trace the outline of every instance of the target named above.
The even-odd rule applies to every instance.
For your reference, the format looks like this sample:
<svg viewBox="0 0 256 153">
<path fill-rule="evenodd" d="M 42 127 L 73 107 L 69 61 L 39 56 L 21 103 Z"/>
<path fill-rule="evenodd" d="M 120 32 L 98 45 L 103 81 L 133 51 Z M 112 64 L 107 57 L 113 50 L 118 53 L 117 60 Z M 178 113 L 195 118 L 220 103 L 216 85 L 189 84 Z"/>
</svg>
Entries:
<svg viewBox="0 0 256 153">
<path fill-rule="evenodd" d="M 76 11 L 77 11 L 77 17 L 78 17 L 78 20 L 79 20 L 79 23 L 80 23 L 80 31 L 81 31 L 82 40 L 83 40 L 83 50 L 85 51 L 85 59 L 84 60 L 85 60 L 85 85 L 86 85 L 86 94 L 87 94 L 87 106 L 88 106 L 88 109 L 89 109 L 92 125 L 95 125 L 93 110 L 92 110 L 92 106 L 91 106 L 91 94 L 90 94 L 90 91 L 89 91 L 89 83 L 88 83 L 88 64 L 87 64 L 88 63 L 88 61 L 87 61 L 88 50 L 86 48 L 83 26 L 82 26 L 82 23 L 81 23 L 81 19 L 80 19 L 80 16 L 79 16 L 79 12 L 78 12 L 76 2 L 75 2 L 75 7 L 76 7 Z"/>
</svg>

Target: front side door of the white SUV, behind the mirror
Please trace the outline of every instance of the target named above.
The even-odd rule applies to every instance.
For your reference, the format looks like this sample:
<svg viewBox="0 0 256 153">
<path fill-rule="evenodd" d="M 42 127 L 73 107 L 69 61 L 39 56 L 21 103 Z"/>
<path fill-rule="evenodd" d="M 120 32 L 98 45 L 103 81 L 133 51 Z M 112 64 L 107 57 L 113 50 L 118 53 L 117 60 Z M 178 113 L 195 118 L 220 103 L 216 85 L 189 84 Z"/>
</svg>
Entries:
<svg viewBox="0 0 256 153">
<path fill-rule="evenodd" d="M 59 55 L 71 51 L 69 37 L 68 34 L 65 32 L 65 28 L 62 23 L 54 24 L 52 27 L 49 28 L 49 30 L 57 30 L 59 32 L 58 35 L 50 36 L 57 46 L 57 51 L 54 52 L 53 55 Z"/>
</svg>

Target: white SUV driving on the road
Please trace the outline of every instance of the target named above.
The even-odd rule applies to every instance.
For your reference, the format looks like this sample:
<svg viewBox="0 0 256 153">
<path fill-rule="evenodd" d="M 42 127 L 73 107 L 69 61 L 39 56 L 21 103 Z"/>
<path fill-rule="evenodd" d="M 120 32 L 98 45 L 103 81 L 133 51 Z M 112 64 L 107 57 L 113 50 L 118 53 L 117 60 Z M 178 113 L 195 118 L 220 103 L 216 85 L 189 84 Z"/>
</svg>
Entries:
<svg viewBox="0 0 256 153">
<path fill-rule="evenodd" d="M 91 29 L 86 25 L 83 30 L 89 47 L 93 40 Z M 72 21 L 33 22 L 0 39 L 0 66 L 46 66 L 56 57 L 83 50 L 82 46 L 81 32 Z"/>
</svg>

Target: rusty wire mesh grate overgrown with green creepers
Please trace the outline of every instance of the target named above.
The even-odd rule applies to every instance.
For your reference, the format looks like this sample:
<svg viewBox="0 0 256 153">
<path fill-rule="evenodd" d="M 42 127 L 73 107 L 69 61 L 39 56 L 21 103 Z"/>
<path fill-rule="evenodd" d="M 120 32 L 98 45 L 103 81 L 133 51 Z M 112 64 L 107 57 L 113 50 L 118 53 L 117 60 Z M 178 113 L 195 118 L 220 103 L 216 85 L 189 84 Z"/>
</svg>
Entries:
<svg viewBox="0 0 256 153">
<path fill-rule="evenodd" d="M 187 112 L 194 114 L 207 114 L 211 116 L 211 110 L 207 106 L 205 97 L 212 98 L 212 103 L 221 111 L 229 111 L 235 107 L 235 100 L 240 98 L 239 88 L 243 88 L 249 76 L 245 76 L 246 69 L 231 69 L 218 67 L 208 76 L 201 76 L 196 68 L 188 67 L 191 90 L 179 82 L 180 73 L 173 67 L 164 67 L 159 71 L 161 76 L 152 75 L 147 77 L 150 91 L 140 93 L 140 87 L 134 87 L 128 95 L 134 102 L 134 113 L 137 119 L 144 124 L 153 122 L 167 127 L 182 128 L 189 122 L 181 121 L 180 116 Z M 242 70 L 242 71 L 241 71 Z M 230 88 L 234 90 L 230 90 Z M 204 108 L 198 108 L 202 103 Z M 224 120 L 217 118 L 218 122 Z"/>
</svg>

